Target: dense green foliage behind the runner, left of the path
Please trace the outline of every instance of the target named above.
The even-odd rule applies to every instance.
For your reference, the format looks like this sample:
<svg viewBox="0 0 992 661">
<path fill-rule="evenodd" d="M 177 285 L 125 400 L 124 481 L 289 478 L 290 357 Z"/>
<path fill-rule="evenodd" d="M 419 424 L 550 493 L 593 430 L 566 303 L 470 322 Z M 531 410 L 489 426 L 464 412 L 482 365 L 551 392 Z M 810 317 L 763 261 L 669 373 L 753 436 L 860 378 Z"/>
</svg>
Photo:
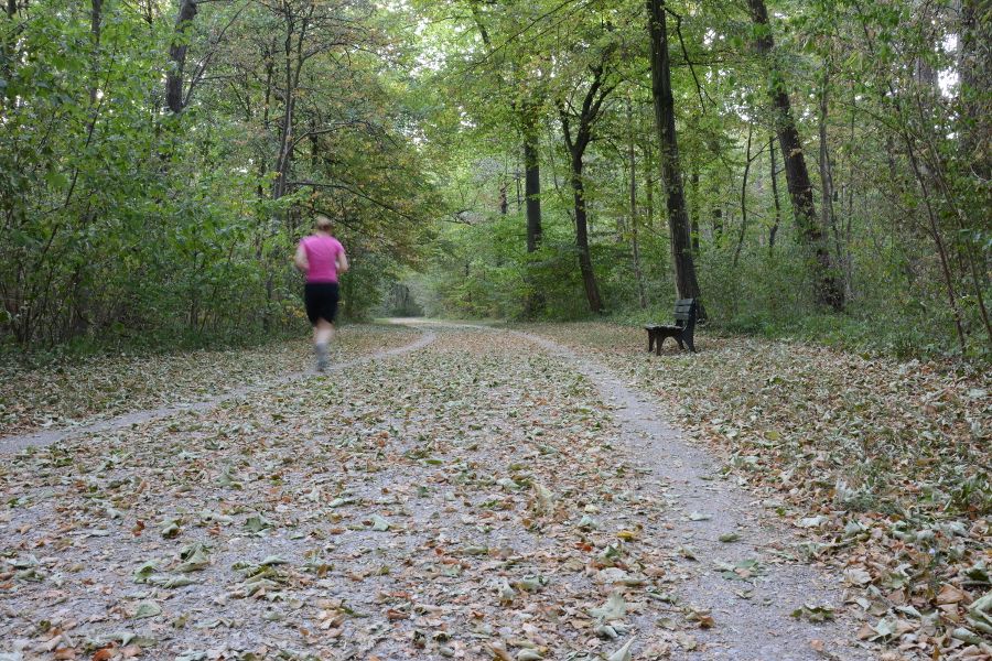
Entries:
<svg viewBox="0 0 992 661">
<path fill-rule="evenodd" d="M 174 37 L 173 11 L 104 2 L 98 37 L 88 4 L 0 20 L 0 325 L 22 347 L 299 328 L 290 257 L 312 210 L 352 254 L 348 316 L 375 304 L 384 262 L 416 259 L 431 186 L 403 134 L 410 91 L 378 76 L 405 47 L 378 36 L 388 21 L 323 3 L 303 33 L 290 18 L 305 2 L 202 4 Z M 273 59 L 294 30 L 299 80 Z M 163 109 L 173 39 L 190 46 L 179 115 Z"/>
</svg>

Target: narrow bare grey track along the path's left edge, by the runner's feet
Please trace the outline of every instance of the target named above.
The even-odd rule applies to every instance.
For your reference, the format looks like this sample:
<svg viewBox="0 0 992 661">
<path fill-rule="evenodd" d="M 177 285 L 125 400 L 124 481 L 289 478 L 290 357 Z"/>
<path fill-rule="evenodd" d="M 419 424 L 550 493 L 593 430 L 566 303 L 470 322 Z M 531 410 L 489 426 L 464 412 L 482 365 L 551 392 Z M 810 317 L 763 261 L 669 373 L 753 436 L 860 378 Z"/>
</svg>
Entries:
<svg viewBox="0 0 992 661">
<path fill-rule="evenodd" d="M 345 368 L 355 367 L 358 365 L 363 365 L 370 360 L 381 360 L 382 358 L 388 358 L 390 356 L 398 356 L 401 354 L 407 354 L 410 351 L 417 351 L 422 349 L 423 347 L 430 345 L 432 342 L 436 339 L 436 335 L 432 330 L 422 330 L 422 335 L 410 344 L 406 344 L 399 347 L 395 347 L 391 349 L 384 349 L 381 351 L 376 351 L 374 354 L 369 354 L 367 356 L 360 356 L 358 358 L 353 358 L 351 360 L 345 360 L 343 362 L 337 362 L 332 365 L 327 371 L 336 372 L 341 371 Z M 149 422 L 152 420 L 158 420 L 160 418 L 168 418 L 170 415 L 175 415 L 177 413 L 185 412 L 198 412 L 198 411 L 207 411 L 213 409 L 224 402 L 230 401 L 233 399 L 237 399 L 240 397 L 254 394 L 256 392 L 261 392 L 269 388 L 273 388 L 276 386 L 281 386 L 283 383 L 295 381 L 298 379 L 303 379 L 306 377 L 314 377 L 316 372 L 312 371 L 294 371 L 287 375 L 282 375 L 276 379 L 266 381 L 263 383 L 256 383 L 254 386 L 244 386 L 241 388 L 236 388 L 234 390 L 229 390 L 223 394 L 218 394 L 216 397 L 212 397 L 209 399 L 201 400 L 193 403 L 183 403 L 183 404 L 172 404 L 166 407 L 159 407 L 155 409 L 143 409 L 140 411 L 133 411 L 131 413 L 125 413 L 123 415 L 117 415 L 109 420 L 101 420 L 99 422 L 94 422 L 89 424 L 82 424 L 77 426 L 71 426 L 60 430 L 45 430 L 41 432 L 31 432 L 29 434 L 19 434 L 15 436 L 6 436 L 0 438 L 0 455 L 20 452 L 28 447 L 45 447 L 47 445 L 52 445 L 53 443 L 58 443 L 72 436 L 85 435 L 85 434 L 97 434 L 100 432 L 112 432 L 116 430 L 120 430 L 123 427 L 128 427 L 134 424 L 141 424 L 144 422 Z"/>
</svg>

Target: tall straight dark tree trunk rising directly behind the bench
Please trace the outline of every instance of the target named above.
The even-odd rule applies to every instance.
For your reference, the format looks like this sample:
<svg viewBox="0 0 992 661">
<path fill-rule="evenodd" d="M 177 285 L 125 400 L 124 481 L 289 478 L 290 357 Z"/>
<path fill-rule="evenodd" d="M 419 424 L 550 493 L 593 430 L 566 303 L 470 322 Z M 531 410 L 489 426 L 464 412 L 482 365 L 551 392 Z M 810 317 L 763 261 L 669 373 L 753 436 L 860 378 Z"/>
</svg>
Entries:
<svg viewBox="0 0 992 661">
<path fill-rule="evenodd" d="M 665 183 L 668 226 L 671 231 L 671 256 L 676 270 L 679 299 L 699 299 L 699 282 L 692 259 L 689 214 L 682 189 L 682 171 L 676 139 L 675 98 L 671 93 L 671 65 L 668 55 L 668 25 L 662 0 L 647 0 L 648 30 L 651 42 L 651 96 L 655 122 L 660 139 L 661 178 Z M 705 318 L 698 304 L 699 317 Z"/>
</svg>

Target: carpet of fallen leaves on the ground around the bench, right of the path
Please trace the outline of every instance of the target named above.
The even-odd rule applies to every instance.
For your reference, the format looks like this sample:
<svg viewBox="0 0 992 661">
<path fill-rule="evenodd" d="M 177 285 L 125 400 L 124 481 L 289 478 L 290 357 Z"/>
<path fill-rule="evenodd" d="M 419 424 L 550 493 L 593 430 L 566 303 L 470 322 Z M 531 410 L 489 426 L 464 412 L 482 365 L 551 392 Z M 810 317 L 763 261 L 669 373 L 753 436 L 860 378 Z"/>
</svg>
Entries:
<svg viewBox="0 0 992 661">
<path fill-rule="evenodd" d="M 783 553 L 843 575 L 856 636 L 882 657 L 992 655 L 992 375 L 743 337 L 655 357 L 639 328 L 525 328 L 651 393 L 791 521 L 805 540 Z"/>
</svg>

